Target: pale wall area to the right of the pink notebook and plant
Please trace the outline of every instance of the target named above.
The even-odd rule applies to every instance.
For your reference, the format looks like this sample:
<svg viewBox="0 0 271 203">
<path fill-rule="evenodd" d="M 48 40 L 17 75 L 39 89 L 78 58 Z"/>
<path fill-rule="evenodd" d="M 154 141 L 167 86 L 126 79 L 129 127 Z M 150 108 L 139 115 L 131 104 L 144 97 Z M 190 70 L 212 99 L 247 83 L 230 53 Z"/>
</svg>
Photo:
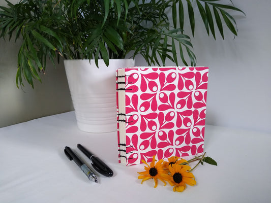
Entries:
<svg viewBox="0 0 271 203">
<path fill-rule="evenodd" d="M 225 40 L 218 30 L 216 40 L 208 37 L 195 12 L 197 66 L 209 67 L 206 122 L 271 132 L 271 1 L 233 3 L 246 13 L 231 12 L 238 28 L 235 39 L 225 29 Z"/>
</svg>

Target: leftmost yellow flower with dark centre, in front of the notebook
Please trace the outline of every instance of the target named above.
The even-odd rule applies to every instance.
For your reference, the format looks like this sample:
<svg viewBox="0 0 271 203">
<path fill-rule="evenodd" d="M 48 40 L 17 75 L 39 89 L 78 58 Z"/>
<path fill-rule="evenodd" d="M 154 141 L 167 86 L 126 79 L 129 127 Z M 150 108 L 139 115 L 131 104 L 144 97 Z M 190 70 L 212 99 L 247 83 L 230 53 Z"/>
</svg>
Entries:
<svg viewBox="0 0 271 203">
<path fill-rule="evenodd" d="M 163 159 L 159 160 L 156 164 L 155 164 L 155 156 L 153 156 L 153 161 L 150 163 L 150 166 L 144 161 L 142 160 L 143 163 L 145 163 L 147 166 L 145 166 L 145 171 L 144 172 L 138 172 L 140 175 L 142 176 L 138 176 L 138 179 L 143 179 L 141 184 L 150 179 L 153 178 L 155 181 L 155 188 L 158 185 L 158 180 L 161 180 L 165 185 L 166 182 L 164 180 L 168 179 L 168 175 L 167 172 L 164 171 L 164 167 L 163 167 Z M 164 185 L 164 186 L 165 186 Z"/>
</svg>

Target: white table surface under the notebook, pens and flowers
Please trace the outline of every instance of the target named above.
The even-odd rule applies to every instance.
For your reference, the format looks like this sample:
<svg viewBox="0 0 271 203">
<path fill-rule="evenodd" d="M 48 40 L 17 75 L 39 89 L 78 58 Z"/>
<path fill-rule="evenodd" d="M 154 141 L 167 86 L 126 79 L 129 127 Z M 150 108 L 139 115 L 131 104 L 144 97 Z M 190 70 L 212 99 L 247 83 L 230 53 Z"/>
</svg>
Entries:
<svg viewBox="0 0 271 203">
<path fill-rule="evenodd" d="M 91 182 L 64 154 L 80 143 L 114 171 Z M 74 112 L 0 128 L 0 202 L 271 202 L 271 134 L 207 125 L 205 151 L 218 166 L 200 165 L 197 185 L 173 192 L 160 182 L 141 185 L 144 164 L 118 163 L 116 132 L 77 128 Z"/>
</svg>

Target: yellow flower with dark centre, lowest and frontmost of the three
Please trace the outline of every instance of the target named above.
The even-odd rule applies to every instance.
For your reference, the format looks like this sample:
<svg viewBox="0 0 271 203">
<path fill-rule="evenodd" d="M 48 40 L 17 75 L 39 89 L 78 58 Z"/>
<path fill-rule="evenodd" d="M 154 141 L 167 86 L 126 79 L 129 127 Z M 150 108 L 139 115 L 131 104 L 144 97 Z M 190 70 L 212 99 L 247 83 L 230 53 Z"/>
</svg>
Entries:
<svg viewBox="0 0 271 203">
<path fill-rule="evenodd" d="M 186 184 L 196 185 L 194 175 L 189 173 L 191 170 L 189 165 L 171 164 L 168 169 L 171 176 L 167 181 L 171 186 L 174 186 L 173 191 L 183 192 L 186 189 Z"/>
</svg>

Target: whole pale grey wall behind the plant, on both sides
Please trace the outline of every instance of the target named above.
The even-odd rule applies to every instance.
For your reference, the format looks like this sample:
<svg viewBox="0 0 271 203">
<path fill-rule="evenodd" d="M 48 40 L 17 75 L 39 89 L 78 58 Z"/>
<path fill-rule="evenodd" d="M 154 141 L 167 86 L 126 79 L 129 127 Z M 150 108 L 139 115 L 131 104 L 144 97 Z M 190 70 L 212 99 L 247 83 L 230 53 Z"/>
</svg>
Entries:
<svg viewBox="0 0 271 203">
<path fill-rule="evenodd" d="M 225 30 L 225 40 L 217 31 L 215 41 L 203 25 L 196 25 L 192 39 L 197 65 L 209 66 L 206 122 L 271 132 L 271 1 L 233 2 L 246 13 L 232 13 L 238 26 L 235 39 Z M 23 92 L 15 85 L 19 43 L 0 43 L 0 127 L 73 109 L 63 63 L 55 70 L 48 67 L 35 90 L 25 83 Z M 146 63 L 139 56 L 136 65 Z"/>
</svg>

